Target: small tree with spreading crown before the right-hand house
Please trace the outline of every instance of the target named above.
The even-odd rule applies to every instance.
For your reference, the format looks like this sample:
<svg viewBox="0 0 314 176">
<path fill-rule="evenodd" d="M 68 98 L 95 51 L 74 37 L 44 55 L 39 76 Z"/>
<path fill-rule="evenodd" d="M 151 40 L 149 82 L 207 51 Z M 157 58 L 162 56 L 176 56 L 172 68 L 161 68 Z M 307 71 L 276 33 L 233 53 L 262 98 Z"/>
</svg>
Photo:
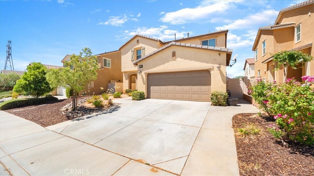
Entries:
<svg viewBox="0 0 314 176">
<path fill-rule="evenodd" d="M 284 80 L 287 80 L 289 66 L 292 69 L 299 69 L 311 60 L 313 60 L 313 56 L 302 51 L 280 51 L 273 54 L 273 61 L 277 63 L 275 70 L 279 70 L 280 65 L 284 67 Z"/>
</svg>

